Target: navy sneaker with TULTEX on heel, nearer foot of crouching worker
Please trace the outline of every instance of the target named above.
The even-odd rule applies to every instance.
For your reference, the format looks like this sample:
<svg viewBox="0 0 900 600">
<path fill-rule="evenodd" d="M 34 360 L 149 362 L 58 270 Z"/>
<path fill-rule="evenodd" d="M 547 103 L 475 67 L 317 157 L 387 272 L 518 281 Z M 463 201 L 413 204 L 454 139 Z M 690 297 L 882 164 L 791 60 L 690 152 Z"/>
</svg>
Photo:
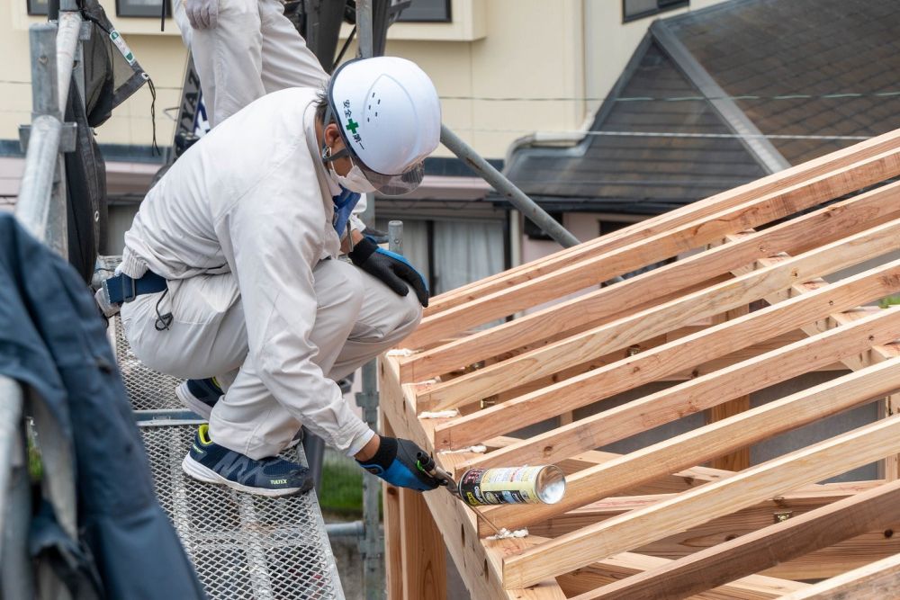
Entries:
<svg viewBox="0 0 900 600">
<path fill-rule="evenodd" d="M 214 443 L 209 429 L 210 425 L 200 425 L 181 463 L 193 479 L 257 496 L 293 496 L 312 489 L 315 481 L 306 467 L 275 456 L 255 461 Z"/>
</svg>

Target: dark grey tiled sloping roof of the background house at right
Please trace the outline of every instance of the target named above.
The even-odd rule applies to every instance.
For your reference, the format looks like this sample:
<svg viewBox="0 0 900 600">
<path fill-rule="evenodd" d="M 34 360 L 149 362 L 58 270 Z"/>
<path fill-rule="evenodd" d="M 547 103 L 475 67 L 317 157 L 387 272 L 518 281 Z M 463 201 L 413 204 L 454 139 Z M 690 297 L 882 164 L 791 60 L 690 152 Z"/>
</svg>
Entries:
<svg viewBox="0 0 900 600">
<path fill-rule="evenodd" d="M 581 143 L 520 144 L 507 173 L 585 239 L 845 148 L 900 127 L 896 31 L 900 4 L 867 0 L 653 22 Z M 524 260 L 554 249 L 533 237 Z"/>
</svg>

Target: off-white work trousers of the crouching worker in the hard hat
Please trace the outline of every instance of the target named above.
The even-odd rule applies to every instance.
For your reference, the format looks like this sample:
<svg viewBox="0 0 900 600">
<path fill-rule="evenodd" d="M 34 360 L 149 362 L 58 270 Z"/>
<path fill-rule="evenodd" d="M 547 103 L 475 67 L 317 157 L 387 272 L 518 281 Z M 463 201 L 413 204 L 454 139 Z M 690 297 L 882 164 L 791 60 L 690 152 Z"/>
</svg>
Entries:
<svg viewBox="0 0 900 600">
<path fill-rule="evenodd" d="M 287 268 L 287 267 L 285 267 Z M 313 358 L 329 379 L 337 381 L 396 345 L 419 324 L 422 309 L 416 294 L 398 296 L 382 282 L 340 260 L 321 261 L 313 269 L 319 309 L 311 342 Z M 238 370 L 254 373 L 247 355 L 247 331 L 240 291 L 232 273 L 200 275 L 169 282 L 169 292 L 139 296 L 122 305 L 121 318 L 135 355 L 149 368 L 185 379 L 217 377 L 223 386 Z M 171 312 L 169 329 L 159 331 L 161 313 Z M 253 459 L 274 456 L 302 425 L 302 415 L 317 399 L 298 393 L 278 402 L 257 377 L 242 377 L 252 388 L 226 394 L 212 409 L 210 434 L 215 443 Z"/>
</svg>

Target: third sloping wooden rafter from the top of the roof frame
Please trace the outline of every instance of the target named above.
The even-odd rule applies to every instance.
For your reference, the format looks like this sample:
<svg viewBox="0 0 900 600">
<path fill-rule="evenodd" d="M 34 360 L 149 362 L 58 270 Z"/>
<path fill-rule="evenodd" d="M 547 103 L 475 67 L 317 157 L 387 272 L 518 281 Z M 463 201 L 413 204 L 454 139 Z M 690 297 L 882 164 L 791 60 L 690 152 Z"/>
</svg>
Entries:
<svg viewBox="0 0 900 600">
<path fill-rule="evenodd" d="M 705 282 L 713 274 L 727 273 L 761 256 L 803 253 L 859 233 L 897 214 L 898 193 L 900 183 L 889 184 L 616 285 L 413 354 L 401 359 L 401 379 L 424 381 L 460 365 L 539 343 L 563 331 L 599 325 L 623 309 Z"/>
</svg>

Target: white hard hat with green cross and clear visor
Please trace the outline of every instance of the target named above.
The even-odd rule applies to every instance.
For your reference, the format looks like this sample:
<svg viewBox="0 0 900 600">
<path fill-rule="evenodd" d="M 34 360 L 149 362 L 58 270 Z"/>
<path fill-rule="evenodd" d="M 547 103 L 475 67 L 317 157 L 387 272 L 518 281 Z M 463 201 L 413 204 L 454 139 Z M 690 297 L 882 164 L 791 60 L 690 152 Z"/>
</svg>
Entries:
<svg viewBox="0 0 900 600">
<path fill-rule="evenodd" d="M 419 187 L 441 138 L 441 104 L 422 69 L 405 58 L 350 60 L 331 76 L 329 107 L 375 189 L 400 195 Z"/>
</svg>

